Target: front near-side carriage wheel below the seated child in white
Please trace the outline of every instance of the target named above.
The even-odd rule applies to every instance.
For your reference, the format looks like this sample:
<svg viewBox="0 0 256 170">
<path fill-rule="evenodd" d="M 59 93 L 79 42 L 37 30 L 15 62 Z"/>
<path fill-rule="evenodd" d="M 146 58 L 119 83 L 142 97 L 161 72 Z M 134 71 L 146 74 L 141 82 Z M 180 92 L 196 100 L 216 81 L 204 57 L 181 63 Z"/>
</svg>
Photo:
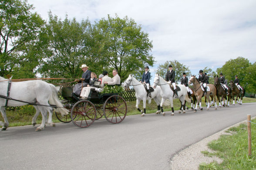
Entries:
<svg viewBox="0 0 256 170">
<path fill-rule="evenodd" d="M 77 101 L 71 109 L 71 120 L 77 127 L 88 127 L 96 118 L 96 108 L 91 101 Z"/>
</svg>

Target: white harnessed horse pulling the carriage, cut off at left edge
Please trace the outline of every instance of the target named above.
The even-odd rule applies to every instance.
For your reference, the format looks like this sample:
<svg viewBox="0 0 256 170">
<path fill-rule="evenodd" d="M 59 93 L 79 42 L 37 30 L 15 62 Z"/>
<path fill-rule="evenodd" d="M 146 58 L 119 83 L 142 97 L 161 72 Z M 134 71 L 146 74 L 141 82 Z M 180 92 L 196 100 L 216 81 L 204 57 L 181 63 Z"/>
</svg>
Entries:
<svg viewBox="0 0 256 170">
<path fill-rule="evenodd" d="M 0 121 L 2 131 L 6 130 L 9 126 L 5 110 L 6 105 L 16 107 L 27 105 L 28 103 L 35 104 L 34 108 L 36 108 L 36 114 L 32 119 L 33 125 L 35 125 L 38 114 L 40 112 L 42 114 L 42 123 L 39 127 L 37 127 L 36 131 L 41 131 L 42 129 L 44 129 L 47 119 L 47 112 L 49 112 L 47 123 L 51 126 L 55 125 L 52 122 L 53 108 L 49 105 L 49 103 L 51 105 L 56 105 L 58 108 L 56 108 L 55 110 L 57 112 L 60 112 L 62 115 L 68 114 L 67 109 L 63 108 L 63 105 L 58 98 L 57 88 L 54 85 L 41 80 L 11 82 L 9 95 L 10 100 L 7 101 L 7 98 L 4 97 L 7 97 L 7 89 L 9 84 L 8 82 L 8 79 L 0 77 L 0 111 L 4 119 L 4 122 Z"/>
</svg>

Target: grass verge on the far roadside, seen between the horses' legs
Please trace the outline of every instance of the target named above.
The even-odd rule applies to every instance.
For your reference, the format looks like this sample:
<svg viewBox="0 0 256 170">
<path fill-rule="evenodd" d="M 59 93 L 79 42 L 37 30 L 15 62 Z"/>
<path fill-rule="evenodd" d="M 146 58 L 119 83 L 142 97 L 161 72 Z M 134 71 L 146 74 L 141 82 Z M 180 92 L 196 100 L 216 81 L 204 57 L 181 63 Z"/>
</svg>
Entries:
<svg viewBox="0 0 256 170">
<path fill-rule="evenodd" d="M 202 106 L 205 107 L 204 99 L 202 99 Z M 135 107 L 136 101 L 126 101 L 128 113 L 127 115 L 134 115 L 134 114 L 141 114 L 137 108 Z M 256 102 L 256 98 L 243 98 L 243 102 Z M 179 99 L 174 99 L 173 101 L 174 110 L 177 111 L 180 108 Z M 190 108 L 190 103 L 186 104 Z M 143 110 L 143 102 L 140 102 L 139 108 Z M 164 111 L 171 111 L 172 108 L 170 106 L 164 106 Z M 149 105 L 148 102 L 146 104 L 146 112 L 147 113 L 155 113 L 157 111 L 157 106 L 155 101 L 152 100 L 151 104 Z M 7 111 L 7 119 L 10 123 L 9 127 L 13 126 L 24 126 L 24 125 L 31 125 L 32 118 L 35 114 L 36 110 L 32 105 L 25 105 L 22 106 L 20 109 L 15 111 Z M 41 115 L 37 118 L 37 124 L 40 124 L 42 120 Z M 0 121 L 3 121 L 3 118 L 0 116 Z M 55 114 L 53 114 L 53 122 L 60 122 Z"/>
</svg>

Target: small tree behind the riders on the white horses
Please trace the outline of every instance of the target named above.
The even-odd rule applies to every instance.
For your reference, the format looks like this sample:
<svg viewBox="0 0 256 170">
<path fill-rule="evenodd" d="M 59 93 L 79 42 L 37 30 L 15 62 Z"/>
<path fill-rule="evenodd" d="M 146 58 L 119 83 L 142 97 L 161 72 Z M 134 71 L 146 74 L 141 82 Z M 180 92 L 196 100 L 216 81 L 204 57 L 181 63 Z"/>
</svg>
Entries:
<svg viewBox="0 0 256 170">
<path fill-rule="evenodd" d="M 176 83 L 181 82 L 183 72 L 185 72 L 187 76 L 191 75 L 191 71 L 190 71 L 189 67 L 178 62 L 177 60 L 166 61 L 165 64 L 159 65 L 157 73 L 160 74 L 161 77 L 165 78 L 165 75 L 166 75 L 166 72 L 168 71 L 169 65 L 172 65 L 173 70 L 175 71 L 175 82 Z"/>
</svg>

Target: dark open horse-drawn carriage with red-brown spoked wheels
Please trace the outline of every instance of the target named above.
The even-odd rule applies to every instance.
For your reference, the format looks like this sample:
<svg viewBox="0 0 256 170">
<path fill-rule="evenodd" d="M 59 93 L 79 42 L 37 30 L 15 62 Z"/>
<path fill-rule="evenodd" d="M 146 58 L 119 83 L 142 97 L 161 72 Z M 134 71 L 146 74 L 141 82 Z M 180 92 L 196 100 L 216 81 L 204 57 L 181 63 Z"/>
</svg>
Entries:
<svg viewBox="0 0 256 170">
<path fill-rule="evenodd" d="M 95 82 L 97 87 L 99 82 Z M 87 100 L 80 100 L 73 93 L 73 86 L 62 87 L 61 96 L 64 108 L 70 114 L 61 115 L 56 112 L 57 119 L 61 122 L 73 122 L 77 127 L 88 127 L 94 120 L 104 117 L 112 124 L 120 123 L 127 114 L 127 105 L 124 98 L 118 93 L 100 93 L 95 88 L 90 89 Z"/>
</svg>

